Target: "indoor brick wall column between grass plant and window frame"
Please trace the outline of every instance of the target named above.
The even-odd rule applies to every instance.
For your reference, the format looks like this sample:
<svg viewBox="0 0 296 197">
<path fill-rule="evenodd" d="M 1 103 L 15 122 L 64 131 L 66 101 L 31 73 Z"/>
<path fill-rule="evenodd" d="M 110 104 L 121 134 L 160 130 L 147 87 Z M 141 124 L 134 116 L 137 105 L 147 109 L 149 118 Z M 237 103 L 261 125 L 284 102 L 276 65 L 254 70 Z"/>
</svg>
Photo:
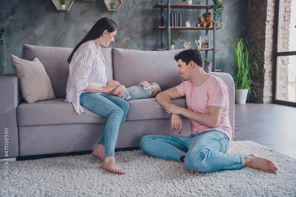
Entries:
<svg viewBox="0 0 296 197">
<path fill-rule="evenodd" d="M 274 51 L 274 0 L 249 0 L 248 6 L 248 48 L 261 48 L 258 61 L 258 76 L 253 81 L 259 85 L 254 88 L 256 96 L 252 102 L 267 103 L 272 100 L 272 68 Z"/>
</svg>

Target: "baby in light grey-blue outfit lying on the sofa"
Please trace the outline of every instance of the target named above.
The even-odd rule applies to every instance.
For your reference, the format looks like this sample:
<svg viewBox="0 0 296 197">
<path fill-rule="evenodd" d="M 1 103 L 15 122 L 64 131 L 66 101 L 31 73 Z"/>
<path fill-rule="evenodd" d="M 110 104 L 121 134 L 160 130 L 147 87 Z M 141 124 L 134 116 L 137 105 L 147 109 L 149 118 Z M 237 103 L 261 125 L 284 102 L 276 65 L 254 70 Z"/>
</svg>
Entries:
<svg viewBox="0 0 296 197">
<path fill-rule="evenodd" d="M 157 83 L 148 83 L 142 81 L 138 86 L 124 87 L 123 85 L 117 86 L 114 90 L 108 92 L 108 95 L 114 95 L 124 100 L 135 100 L 143 98 L 154 98 L 161 89 Z"/>
</svg>

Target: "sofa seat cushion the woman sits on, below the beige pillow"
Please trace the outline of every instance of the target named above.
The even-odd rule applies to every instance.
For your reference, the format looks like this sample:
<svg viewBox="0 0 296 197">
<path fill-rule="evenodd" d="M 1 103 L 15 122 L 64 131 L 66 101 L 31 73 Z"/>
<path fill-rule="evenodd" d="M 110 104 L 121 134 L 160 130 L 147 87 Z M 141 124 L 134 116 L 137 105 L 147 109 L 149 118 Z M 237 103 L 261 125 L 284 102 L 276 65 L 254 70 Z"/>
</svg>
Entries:
<svg viewBox="0 0 296 197">
<path fill-rule="evenodd" d="M 78 115 L 73 105 L 65 99 L 38 101 L 33 104 L 22 102 L 17 106 L 17 125 L 54 125 L 69 123 L 107 123 L 107 118 L 96 115 L 83 107 L 85 113 Z"/>
</svg>

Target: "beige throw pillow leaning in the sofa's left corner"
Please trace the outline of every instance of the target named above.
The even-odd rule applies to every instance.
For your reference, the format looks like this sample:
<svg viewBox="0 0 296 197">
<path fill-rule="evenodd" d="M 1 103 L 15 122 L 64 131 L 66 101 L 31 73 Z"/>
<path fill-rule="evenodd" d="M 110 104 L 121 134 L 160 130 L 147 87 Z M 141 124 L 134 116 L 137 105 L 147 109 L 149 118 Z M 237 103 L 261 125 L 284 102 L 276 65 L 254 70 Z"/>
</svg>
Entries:
<svg viewBox="0 0 296 197">
<path fill-rule="evenodd" d="M 19 78 L 20 90 L 25 101 L 33 103 L 55 99 L 49 76 L 38 58 L 28 61 L 11 55 L 11 63 Z"/>
</svg>

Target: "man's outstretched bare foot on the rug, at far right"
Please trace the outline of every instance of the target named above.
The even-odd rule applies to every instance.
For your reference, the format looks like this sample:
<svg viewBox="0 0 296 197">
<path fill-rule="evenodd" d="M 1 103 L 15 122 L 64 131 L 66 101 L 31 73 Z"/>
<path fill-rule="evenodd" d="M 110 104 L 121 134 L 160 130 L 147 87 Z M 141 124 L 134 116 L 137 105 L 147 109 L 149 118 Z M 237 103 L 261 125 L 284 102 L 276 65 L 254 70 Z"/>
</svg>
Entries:
<svg viewBox="0 0 296 197">
<path fill-rule="evenodd" d="M 250 154 L 249 156 L 242 157 L 244 160 L 244 166 L 251 167 L 257 170 L 263 170 L 265 172 L 270 172 L 276 174 L 278 170 L 277 167 L 268 159 L 263 157 L 258 157 L 255 154 Z"/>
</svg>

